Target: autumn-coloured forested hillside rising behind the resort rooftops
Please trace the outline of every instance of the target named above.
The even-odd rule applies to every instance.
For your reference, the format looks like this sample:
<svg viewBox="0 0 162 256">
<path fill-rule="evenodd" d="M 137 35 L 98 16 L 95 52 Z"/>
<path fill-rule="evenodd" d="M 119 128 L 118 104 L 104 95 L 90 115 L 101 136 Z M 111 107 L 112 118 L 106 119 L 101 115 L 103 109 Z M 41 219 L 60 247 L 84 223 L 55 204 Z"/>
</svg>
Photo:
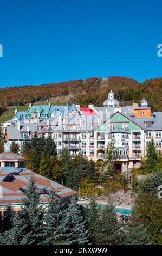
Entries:
<svg viewBox="0 0 162 256">
<path fill-rule="evenodd" d="M 140 103 L 145 97 L 148 106 L 154 111 L 162 111 L 161 85 L 162 77 L 146 79 L 143 83 L 139 83 L 127 77 L 109 76 L 107 79 L 92 77 L 40 86 L 4 87 L 0 89 L 0 112 L 4 112 L 7 106 L 23 106 L 24 103 L 34 103 L 49 98 L 65 99 L 66 95 L 69 95 L 67 98 L 69 104 L 79 103 L 81 106 L 88 106 L 92 103 L 95 106 L 103 106 L 110 90 L 114 92 L 121 106 L 132 104 L 132 101 Z"/>
</svg>

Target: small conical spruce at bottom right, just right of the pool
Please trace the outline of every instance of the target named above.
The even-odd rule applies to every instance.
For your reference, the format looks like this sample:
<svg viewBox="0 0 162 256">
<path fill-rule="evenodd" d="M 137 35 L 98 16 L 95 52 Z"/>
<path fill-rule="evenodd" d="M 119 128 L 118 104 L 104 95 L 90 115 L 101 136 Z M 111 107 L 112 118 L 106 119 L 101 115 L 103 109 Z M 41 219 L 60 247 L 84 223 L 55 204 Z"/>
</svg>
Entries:
<svg viewBox="0 0 162 256">
<path fill-rule="evenodd" d="M 141 223 L 135 208 L 131 210 L 131 216 L 126 227 L 125 245 L 150 245 L 144 224 Z"/>
</svg>

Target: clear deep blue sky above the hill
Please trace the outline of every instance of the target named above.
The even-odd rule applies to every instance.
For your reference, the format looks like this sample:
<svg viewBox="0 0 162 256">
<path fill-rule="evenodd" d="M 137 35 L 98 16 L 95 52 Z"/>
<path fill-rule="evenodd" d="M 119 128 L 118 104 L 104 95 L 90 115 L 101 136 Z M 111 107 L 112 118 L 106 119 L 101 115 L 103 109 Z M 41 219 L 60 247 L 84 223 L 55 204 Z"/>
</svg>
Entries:
<svg viewBox="0 0 162 256">
<path fill-rule="evenodd" d="M 162 1 L 1 1 L 0 87 L 162 76 Z"/>
</svg>

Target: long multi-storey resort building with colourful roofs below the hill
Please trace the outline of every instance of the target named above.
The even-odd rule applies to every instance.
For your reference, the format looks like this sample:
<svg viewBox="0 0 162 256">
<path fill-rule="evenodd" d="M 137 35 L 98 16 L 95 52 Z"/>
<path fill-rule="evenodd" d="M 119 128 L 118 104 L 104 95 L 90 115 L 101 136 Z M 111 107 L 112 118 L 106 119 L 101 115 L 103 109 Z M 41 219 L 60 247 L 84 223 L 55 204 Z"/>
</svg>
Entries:
<svg viewBox="0 0 162 256">
<path fill-rule="evenodd" d="M 30 105 L 27 112 L 15 111 L 12 120 L 1 125 L 5 142 L 18 143 L 20 151 L 27 137 L 35 131 L 47 137 L 51 133 L 57 154 L 63 148 L 69 154 L 82 153 L 88 159 L 104 161 L 105 149 L 114 142 L 115 164 L 118 169 L 140 167 L 148 142 L 154 139 L 157 151 L 161 150 L 162 112 L 153 112 L 142 99 L 140 107 L 120 107 L 111 91 L 103 107 L 90 104 L 87 108 L 72 106 Z"/>
</svg>

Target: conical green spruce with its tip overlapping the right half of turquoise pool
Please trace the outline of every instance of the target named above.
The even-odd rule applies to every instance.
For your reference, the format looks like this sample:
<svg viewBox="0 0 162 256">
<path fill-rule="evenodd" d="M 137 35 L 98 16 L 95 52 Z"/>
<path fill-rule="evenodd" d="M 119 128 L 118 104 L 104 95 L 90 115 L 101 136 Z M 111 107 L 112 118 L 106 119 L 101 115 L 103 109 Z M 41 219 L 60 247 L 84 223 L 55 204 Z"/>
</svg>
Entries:
<svg viewBox="0 0 162 256">
<path fill-rule="evenodd" d="M 114 208 L 110 200 L 101 211 L 96 223 L 96 245 L 124 245 L 125 233 L 120 230 L 122 224 L 118 222 Z"/>
</svg>

